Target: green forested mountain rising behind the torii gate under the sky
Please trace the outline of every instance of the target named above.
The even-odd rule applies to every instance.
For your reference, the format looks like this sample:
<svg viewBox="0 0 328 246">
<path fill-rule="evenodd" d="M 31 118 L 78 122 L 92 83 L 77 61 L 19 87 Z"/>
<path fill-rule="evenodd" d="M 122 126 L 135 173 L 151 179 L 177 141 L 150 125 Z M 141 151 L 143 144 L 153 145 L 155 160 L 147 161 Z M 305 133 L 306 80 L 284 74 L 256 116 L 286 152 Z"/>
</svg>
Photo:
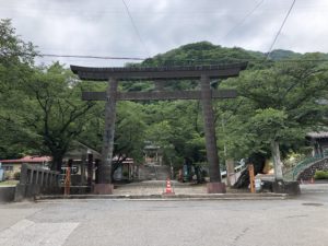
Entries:
<svg viewBox="0 0 328 246">
<path fill-rule="evenodd" d="M 324 59 L 328 59 L 328 54 L 320 54 Z M 152 58 L 144 60 L 141 63 L 129 63 L 129 67 L 160 67 L 160 66 L 201 66 L 201 65 L 220 65 L 248 61 L 247 69 L 261 69 L 270 67 L 272 61 L 286 59 L 297 59 L 303 55 L 292 50 L 276 49 L 270 54 L 269 62 L 263 62 L 267 59 L 267 54 L 260 51 L 246 50 L 239 47 L 222 47 L 213 45 L 209 42 L 199 42 L 183 45 L 178 48 L 168 50 L 164 54 L 159 54 Z M 176 87 L 176 86 L 180 87 Z M 168 87 L 189 89 L 188 83 L 167 82 Z M 138 83 L 122 83 L 125 91 L 152 91 L 153 83 L 140 81 Z"/>
</svg>

